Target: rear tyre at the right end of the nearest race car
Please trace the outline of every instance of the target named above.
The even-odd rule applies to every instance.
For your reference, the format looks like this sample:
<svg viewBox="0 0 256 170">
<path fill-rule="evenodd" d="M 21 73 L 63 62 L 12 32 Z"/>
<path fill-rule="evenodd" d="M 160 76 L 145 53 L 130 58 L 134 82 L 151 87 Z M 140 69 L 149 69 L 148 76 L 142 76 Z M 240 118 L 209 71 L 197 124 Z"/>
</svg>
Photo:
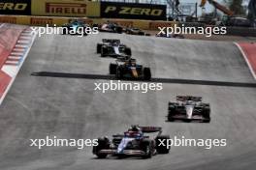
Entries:
<svg viewBox="0 0 256 170">
<path fill-rule="evenodd" d="M 159 135 L 155 139 L 156 151 L 158 154 L 169 154 L 170 148 L 168 148 L 168 140 L 170 139 L 169 135 Z M 161 143 L 164 143 L 165 146 Z"/>
</svg>

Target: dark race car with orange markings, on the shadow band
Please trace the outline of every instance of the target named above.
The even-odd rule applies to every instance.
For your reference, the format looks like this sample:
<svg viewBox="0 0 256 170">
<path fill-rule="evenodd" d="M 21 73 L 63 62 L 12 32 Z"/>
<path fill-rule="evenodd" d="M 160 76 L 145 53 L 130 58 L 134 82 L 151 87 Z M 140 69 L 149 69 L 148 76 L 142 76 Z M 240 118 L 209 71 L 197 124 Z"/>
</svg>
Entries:
<svg viewBox="0 0 256 170">
<path fill-rule="evenodd" d="M 110 64 L 110 74 L 115 74 L 117 79 L 151 79 L 150 68 L 144 68 L 136 63 L 136 59 L 117 59 Z"/>
</svg>

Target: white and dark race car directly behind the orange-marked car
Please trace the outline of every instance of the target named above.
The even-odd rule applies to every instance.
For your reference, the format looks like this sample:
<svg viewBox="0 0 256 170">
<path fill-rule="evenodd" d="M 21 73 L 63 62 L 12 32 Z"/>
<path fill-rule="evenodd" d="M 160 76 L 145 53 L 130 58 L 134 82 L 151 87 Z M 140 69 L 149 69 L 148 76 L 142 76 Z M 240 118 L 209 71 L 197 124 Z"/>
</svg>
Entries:
<svg viewBox="0 0 256 170">
<path fill-rule="evenodd" d="M 101 43 L 97 43 L 97 53 L 101 54 L 101 57 L 111 56 L 117 58 L 123 55 L 132 55 L 130 47 L 122 44 L 120 40 L 103 39 Z"/>
</svg>

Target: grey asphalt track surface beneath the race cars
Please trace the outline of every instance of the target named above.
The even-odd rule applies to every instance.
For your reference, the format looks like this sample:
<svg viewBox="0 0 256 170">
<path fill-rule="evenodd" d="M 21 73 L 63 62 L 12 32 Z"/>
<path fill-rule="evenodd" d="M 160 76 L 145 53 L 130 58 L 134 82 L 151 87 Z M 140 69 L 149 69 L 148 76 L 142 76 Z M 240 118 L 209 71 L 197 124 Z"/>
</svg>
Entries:
<svg viewBox="0 0 256 170">
<path fill-rule="evenodd" d="M 0 107 L 1 170 L 252 170 L 256 165 L 255 88 L 164 83 L 159 92 L 94 91 L 108 79 L 32 76 L 39 71 L 107 75 L 111 58 L 95 54 L 102 38 L 132 47 L 153 77 L 254 83 L 232 42 L 201 42 L 100 34 L 37 38 Z M 210 124 L 167 123 L 167 104 L 176 95 L 202 96 L 211 106 Z M 151 159 L 97 159 L 91 148 L 30 147 L 29 139 L 97 138 L 130 125 L 161 126 L 171 137 L 227 139 L 226 147 L 173 147 Z"/>
</svg>

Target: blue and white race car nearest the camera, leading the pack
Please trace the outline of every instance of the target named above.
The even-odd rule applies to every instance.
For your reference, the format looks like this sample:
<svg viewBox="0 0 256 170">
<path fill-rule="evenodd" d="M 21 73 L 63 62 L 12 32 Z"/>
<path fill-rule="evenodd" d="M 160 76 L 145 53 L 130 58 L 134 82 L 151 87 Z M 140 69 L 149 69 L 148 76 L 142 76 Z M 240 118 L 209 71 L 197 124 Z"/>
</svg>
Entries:
<svg viewBox="0 0 256 170">
<path fill-rule="evenodd" d="M 149 133 L 157 134 L 149 137 Z M 106 158 L 109 155 L 150 158 L 157 154 L 169 154 L 169 139 L 169 135 L 162 135 L 160 127 L 132 126 L 123 134 L 112 135 L 112 140 L 106 136 L 98 138 L 98 146 L 93 147 L 92 153 L 99 158 Z"/>
</svg>

